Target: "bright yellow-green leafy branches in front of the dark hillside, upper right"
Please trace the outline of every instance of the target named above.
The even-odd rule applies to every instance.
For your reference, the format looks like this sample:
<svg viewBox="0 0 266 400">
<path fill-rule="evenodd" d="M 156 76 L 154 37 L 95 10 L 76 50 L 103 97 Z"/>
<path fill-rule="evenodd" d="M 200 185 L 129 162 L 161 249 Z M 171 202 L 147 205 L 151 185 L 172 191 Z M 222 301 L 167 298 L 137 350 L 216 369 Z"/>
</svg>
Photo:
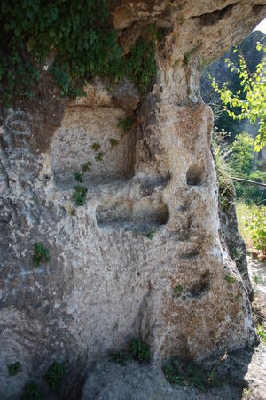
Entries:
<svg viewBox="0 0 266 400">
<path fill-rule="evenodd" d="M 261 44 L 257 45 L 258 51 L 266 52 L 266 48 Z M 237 52 L 237 50 L 235 51 Z M 237 68 L 231 60 L 225 60 L 231 72 L 237 72 L 241 82 L 241 89 L 233 93 L 229 89 L 228 84 L 224 83 L 222 88 L 215 82 L 213 78 L 212 86 L 223 102 L 224 110 L 234 120 L 248 119 L 252 124 L 259 123 L 260 128 L 254 142 L 254 151 L 259 151 L 266 144 L 266 76 L 265 76 L 265 58 L 257 68 L 254 74 L 249 74 L 246 61 L 239 52 L 239 68 Z M 240 110 L 236 112 L 236 108 Z"/>
</svg>

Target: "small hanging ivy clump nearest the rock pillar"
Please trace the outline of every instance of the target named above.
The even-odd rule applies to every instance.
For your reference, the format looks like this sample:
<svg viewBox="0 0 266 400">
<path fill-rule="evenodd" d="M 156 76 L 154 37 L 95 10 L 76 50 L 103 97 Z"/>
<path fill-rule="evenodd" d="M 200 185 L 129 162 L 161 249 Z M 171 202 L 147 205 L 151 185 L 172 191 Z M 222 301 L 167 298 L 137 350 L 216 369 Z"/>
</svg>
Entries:
<svg viewBox="0 0 266 400">
<path fill-rule="evenodd" d="M 126 75 L 139 92 L 147 92 L 157 74 L 155 41 L 146 41 L 140 37 L 126 56 L 126 69 Z"/>
</svg>

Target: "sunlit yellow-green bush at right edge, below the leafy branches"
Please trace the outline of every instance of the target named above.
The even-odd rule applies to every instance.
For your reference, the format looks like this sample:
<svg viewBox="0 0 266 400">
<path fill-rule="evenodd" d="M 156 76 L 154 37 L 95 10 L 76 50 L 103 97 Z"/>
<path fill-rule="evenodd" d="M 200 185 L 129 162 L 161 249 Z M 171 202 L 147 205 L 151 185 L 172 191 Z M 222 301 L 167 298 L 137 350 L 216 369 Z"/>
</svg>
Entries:
<svg viewBox="0 0 266 400">
<path fill-rule="evenodd" d="M 266 206 L 254 206 L 251 216 L 246 218 L 254 248 L 266 255 Z"/>
</svg>

